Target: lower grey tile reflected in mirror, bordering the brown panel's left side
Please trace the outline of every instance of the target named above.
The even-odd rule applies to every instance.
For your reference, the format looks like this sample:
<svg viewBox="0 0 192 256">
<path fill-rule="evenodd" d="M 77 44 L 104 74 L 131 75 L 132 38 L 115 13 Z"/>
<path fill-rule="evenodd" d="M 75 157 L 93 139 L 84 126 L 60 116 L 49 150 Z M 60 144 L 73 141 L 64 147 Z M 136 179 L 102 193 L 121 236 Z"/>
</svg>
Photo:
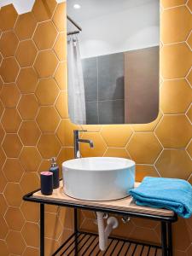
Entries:
<svg viewBox="0 0 192 256">
<path fill-rule="evenodd" d="M 124 100 L 98 102 L 99 124 L 124 124 Z"/>
</svg>

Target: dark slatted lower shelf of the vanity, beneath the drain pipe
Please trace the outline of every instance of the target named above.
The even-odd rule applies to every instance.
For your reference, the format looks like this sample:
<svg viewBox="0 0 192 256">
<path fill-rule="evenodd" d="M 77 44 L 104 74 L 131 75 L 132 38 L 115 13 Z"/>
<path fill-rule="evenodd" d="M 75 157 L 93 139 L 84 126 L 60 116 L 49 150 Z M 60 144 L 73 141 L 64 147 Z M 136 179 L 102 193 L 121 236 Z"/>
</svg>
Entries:
<svg viewBox="0 0 192 256">
<path fill-rule="evenodd" d="M 76 253 L 75 253 L 76 252 Z M 105 252 L 99 249 L 98 235 L 78 232 L 70 236 L 52 256 L 161 256 L 161 247 L 110 237 Z"/>
</svg>

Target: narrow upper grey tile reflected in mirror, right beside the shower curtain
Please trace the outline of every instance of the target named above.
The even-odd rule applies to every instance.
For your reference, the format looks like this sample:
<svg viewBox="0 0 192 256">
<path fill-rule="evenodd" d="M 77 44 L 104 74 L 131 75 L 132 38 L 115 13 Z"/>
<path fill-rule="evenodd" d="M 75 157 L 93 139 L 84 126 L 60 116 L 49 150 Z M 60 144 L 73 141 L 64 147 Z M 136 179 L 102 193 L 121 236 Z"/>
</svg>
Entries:
<svg viewBox="0 0 192 256">
<path fill-rule="evenodd" d="M 85 101 L 97 100 L 97 67 L 96 57 L 82 60 L 84 74 Z"/>
</svg>

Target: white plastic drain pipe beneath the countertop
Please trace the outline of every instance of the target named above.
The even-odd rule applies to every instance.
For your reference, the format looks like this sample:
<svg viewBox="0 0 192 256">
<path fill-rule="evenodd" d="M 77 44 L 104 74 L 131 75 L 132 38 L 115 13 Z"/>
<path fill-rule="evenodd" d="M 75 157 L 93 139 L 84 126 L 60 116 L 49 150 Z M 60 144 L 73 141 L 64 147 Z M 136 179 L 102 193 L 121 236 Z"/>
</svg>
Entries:
<svg viewBox="0 0 192 256">
<path fill-rule="evenodd" d="M 108 247 L 108 236 L 111 231 L 118 227 L 118 219 L 115 217 L 109 217 L 107 220 L 107 226 L 105 228 L 104 224 L 104 213 L 96 212 L 97 216 L 97 224 L 98 224 L 98 232 L 99 232 L 99 247 L 101 251 L 105 251 Z"/>
</svg>

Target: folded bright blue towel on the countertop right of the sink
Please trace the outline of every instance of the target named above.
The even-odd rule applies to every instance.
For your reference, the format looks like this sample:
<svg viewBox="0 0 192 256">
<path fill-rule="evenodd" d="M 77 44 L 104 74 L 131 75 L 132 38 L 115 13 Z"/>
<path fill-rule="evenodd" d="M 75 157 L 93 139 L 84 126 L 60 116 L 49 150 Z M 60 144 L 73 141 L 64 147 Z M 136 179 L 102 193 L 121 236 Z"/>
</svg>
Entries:
<svg viewBox="0 0 192 256">
<path fill-rule="evenodd" d="M 166 208 L 183 218 L 192 215 L 192 186 L 183 179 L 144 177 L 130 195 L 139 206 Z"/>
</svg>

